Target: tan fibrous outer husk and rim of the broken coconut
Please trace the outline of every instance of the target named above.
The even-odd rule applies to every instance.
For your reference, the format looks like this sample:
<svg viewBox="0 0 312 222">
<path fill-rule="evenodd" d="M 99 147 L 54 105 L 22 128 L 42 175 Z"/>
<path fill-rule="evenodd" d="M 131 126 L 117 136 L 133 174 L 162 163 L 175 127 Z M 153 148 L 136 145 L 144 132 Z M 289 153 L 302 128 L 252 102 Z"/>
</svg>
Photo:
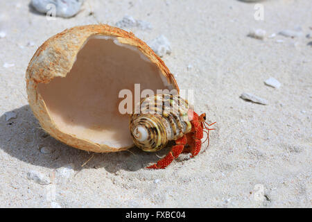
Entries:
<svg viewBox="0 0 312 222">
<path fill-rule="evenodd" d="M 168 83 L 179 91 L 175 78 L 162 59 L 145 42 L 139 40 L 133 33 L 128 33 L 120 28 L 99 24 L 76 26 L 66 29 L 62 33 L 58 33 L 49 38 L 49 40 L 46 40 L 37 49 L 26 71 L 28 102 L 42 128 L 55 139 L 85 151 L 98 153 L 123 151 L 131 146 L 107 146 L 106 144 L 92 142 L 88 138 L 78 138 L 74 134 L 62 132 L 51 118 L 46 103 L 37 90 L 37 86 L 40 83 L 49 83 L 55 77 L 67 76 L 76 61 L 78 51 L 82 49 L 88 38 L 93 35 L 116 37 L 120 43 L 137 47 L 150 62 L 157 65 Z"/>
</svg>

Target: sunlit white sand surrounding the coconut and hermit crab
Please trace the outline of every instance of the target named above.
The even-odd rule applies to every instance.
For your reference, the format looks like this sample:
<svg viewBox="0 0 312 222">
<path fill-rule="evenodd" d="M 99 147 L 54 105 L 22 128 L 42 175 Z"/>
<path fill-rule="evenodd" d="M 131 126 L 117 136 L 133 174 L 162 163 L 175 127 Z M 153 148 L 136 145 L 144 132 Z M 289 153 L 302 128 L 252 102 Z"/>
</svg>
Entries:
<svg viewBox="0 0 312 222">
<path fill-rule="evenodd" d="M 236 0 L 89 0 L 76 17 L 48 21 L 28 1 L 1 1 L 0 207 L 311 207 L 312 1 L 262 3 L 264 21 L 254 19 L 254 3 Z M 47 38 L 125 15 L 153 26 L 133 28 L 142 40 L 168 38 L 164 62 L 181 89 L 195 89 L 196 111 L 217 122 L 208 149 L 165 170 L 144 169 L 158 157 L 138 148 L 97 153 L 80 167 L 92 153 L 45 135 L 26 99 L 26 67 Z M 247 37 L 296 26 L 303 36 Z M 263 83 L 270 77 L 279 89 Z M 240 99 L 243 92 L 268 105 Z M 17 118 L 6 121 L 8 111 Z M 29 180 L 29 171 L 51 184 Z"/>
</svg>

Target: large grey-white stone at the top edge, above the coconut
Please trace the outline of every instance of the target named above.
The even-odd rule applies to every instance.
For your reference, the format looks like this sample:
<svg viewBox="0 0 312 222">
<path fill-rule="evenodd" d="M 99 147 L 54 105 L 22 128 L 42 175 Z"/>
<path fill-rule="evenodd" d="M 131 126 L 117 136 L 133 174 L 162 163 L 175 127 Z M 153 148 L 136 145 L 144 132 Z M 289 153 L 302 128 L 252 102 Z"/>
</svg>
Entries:
<svg viewBox="0 0 312 222">
<path fill-rule="evenodd" d="M 51 4 L 55 6 L 55 15 L 58 17 L 73 17 L 80 11 L 83 0 L 31 0 L 31 5 L 38 12 L 51 12 Z"/>
</svg>

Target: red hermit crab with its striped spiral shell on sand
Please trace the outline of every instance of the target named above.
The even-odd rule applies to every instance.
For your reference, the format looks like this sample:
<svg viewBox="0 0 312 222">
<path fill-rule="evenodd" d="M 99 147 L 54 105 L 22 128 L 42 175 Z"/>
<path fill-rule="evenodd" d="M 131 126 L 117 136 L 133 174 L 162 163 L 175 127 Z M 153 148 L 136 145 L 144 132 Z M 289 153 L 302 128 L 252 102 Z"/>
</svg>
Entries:
<svg viewBox="0 0 312 222">
<path fill-rule="evenodd" d="M 208 124 L 206 114 L 198 116 L 193 106 L 180 96 L 156 94 L 142 99 L 139 105 L 139 113 L 130 115 L 129 128 L 135 145 L 143 151 L 155 152 L 175 141 L 171 151 L 148 169 L 164 169 L 180 153 L 198 155 L 203 132 L 207 133 L 209 144 L 209 130 L 214 129 L 208 127 L 214 123 Z"/>
</svg>

